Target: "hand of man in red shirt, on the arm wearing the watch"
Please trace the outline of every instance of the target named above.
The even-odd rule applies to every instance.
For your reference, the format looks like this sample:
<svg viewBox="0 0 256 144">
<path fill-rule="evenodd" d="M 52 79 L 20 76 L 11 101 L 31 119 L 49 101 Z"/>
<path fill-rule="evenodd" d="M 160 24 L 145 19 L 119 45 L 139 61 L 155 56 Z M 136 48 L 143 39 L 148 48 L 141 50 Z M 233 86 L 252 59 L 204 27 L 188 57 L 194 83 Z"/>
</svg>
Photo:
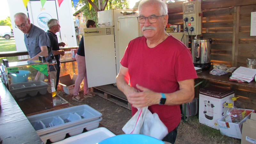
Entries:
<svg viewBox="0 0 256 144">
<path fill-rule="evenodd" d="M 141 92 L 134 92 L 127 95 L 127 100 L 132 104 L 132 107 L 142 108 L 159 104 L 162 97 L 160 93 L 153 92 L 143 86 L 140 86 L 139 84 L 137 84 L 136 87 Z"/>
</svg>

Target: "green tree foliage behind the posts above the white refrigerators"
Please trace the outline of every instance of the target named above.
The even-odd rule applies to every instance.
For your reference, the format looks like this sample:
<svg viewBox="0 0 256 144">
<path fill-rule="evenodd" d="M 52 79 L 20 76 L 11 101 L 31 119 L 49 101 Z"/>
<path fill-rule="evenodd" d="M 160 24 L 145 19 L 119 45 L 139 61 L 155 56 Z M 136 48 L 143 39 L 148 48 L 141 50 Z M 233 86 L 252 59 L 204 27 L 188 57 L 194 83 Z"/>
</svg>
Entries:
<svg viewBox="0 0 256 144">
<path fill-rule="evenodd" d="M 99 8 L 98 0 L 94 0 L 93 3 Z M 102 1 L 102 3 L 104 4 L 104 0 Z M 96 23 L 98 23 L 98 12 L 96 12 L 93 7 L 91 8 L 91 10 L 89 9 L 89 2 L 87 0 L 79 0 L 77 5 L 84 5 L 82 7 L 82 11 L 86 20 L 94 20 Z M 128 8 L 129 0 L 108 0 L 108 4 L 105 10 Z"/>
</svg>

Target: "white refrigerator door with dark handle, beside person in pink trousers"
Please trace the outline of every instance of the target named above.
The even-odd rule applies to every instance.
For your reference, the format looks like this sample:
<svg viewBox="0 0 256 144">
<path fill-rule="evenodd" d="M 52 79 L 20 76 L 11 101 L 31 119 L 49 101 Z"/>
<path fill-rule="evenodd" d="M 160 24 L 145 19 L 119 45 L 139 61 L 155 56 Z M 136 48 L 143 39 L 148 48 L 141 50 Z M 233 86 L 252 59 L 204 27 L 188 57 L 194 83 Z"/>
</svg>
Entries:
<svg viewBox="0 0 256 144">
<path fill-rule="evenodd" d="M 88 87 L 116 83 L 114 28 L 84 28 Z"/>
</svg>

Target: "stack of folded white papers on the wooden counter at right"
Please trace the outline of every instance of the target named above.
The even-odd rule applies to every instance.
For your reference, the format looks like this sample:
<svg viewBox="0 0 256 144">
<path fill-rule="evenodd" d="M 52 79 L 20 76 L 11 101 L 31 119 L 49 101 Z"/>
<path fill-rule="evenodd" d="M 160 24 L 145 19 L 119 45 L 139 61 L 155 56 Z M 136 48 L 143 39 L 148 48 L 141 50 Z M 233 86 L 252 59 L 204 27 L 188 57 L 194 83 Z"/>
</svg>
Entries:
<svg viewBox="0 0 256 144">
<path fill-rule="evenodd" d="M 230 79 L 251 82 L 254 79 L 255 75 L 256 75 L 256 69 L 239 67 L 233 72 Z"/>
</svg>

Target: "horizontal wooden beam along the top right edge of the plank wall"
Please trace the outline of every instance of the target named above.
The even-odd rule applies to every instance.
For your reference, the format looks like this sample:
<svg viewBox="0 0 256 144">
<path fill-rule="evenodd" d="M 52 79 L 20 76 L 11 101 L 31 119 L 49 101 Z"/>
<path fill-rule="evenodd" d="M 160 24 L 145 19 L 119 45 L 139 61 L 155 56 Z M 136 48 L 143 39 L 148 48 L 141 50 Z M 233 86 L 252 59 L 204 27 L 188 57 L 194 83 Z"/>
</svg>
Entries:
<svg viewBox="0 0 256 144">
<path fill-rule="evenodd" d="M 213 3 L 204 3 L 202 4 L 203 9 L 211 9 L 211 8 L 220 8 L 220 7 L 232 7 L 232 6 L 240 6 L 240 5 L 250 5 L 256 4 L 256 0 L 227 0 L 227 1 L 218 1 Z"/>
</svg>

